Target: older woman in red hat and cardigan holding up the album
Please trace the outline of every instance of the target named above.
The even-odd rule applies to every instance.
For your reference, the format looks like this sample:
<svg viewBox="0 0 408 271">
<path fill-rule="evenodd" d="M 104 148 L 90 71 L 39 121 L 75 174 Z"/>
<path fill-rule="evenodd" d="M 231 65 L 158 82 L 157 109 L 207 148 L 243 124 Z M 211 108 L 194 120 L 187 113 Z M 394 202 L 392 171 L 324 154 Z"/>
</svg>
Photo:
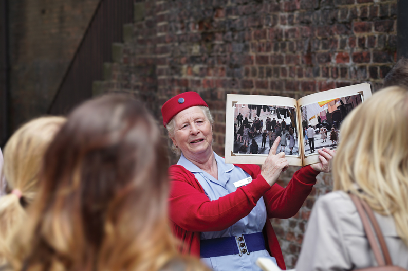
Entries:
<svg viewBox="0 0 408 271">
<path fill-rule="evenodd" d="M 270 218 L 290 218 L 309 195 L 319 172 L 330 170 L 334 151 L 319 150 L 319 164 L 296 171 L 284 189 L 275 184 L 288 168 L 285 153 L 276 154 L 277 137 L 261 168 L 226 164 L 212 149 L 213 118 L 195 92 L 179 94 L 162 109 L 163 124 L 181 154 L 169 169 L 172 231 L 184 254 L 209 267 L 259 270 L 258 257 L 271 257 L 286 269 Z"/>
</svg>

